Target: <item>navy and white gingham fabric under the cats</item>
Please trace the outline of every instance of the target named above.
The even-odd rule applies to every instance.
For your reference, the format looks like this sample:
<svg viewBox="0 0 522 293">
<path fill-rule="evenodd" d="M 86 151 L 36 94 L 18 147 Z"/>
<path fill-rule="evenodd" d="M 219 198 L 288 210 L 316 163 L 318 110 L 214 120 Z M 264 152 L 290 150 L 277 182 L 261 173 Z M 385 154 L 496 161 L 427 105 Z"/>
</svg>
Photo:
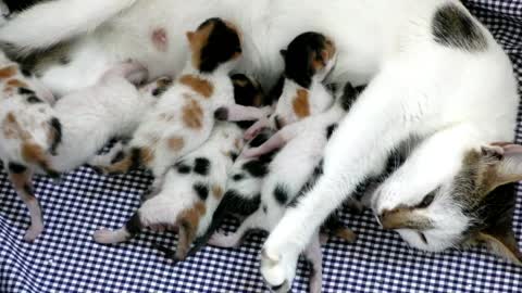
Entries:
<svg viewBox="0 0 522 293">
<path fill-rule="evenodd" d="M 464 2 L 510 53 L 522 85 L 522 0 Z M 28 244 L 22 240 L 29 219 L 26 207 L 0 173 L 0 292 L 264 292 L 258 271 L 261 235 L 236 250 L 206 247 L 177 265 L 153 246 L 174 245 L 170 233 L 146 232 L 122 245 L 99 245 L 92 231 L 121 226 L 137 208 L 150 178 L 140 173 L 108 178 L 82 168 L 64 179 L 60 186 L 37 180 L 46 231 Z M 519 245 L 521 193 L 514 216 Z M 484 249 L 422 253 L 383 231 L 368 212 L 344 219 L 359 239 L 324 246 L 324 292 L 522 292 L 522 268 Z M 295 292 L 307 292 L 303 263 L 297 276 Z"/>
</svg>

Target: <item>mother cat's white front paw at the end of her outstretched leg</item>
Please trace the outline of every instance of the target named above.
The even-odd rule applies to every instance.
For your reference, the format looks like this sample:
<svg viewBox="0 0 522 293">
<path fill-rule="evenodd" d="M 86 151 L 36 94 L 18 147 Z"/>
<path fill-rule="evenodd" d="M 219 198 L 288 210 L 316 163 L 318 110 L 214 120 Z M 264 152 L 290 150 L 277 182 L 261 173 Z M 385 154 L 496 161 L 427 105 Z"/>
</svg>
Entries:
<svg viewBox="0 0 522 293">
<path fill-rule="evenodd" d="M 289 292 L 296 273 L 297 257 L 264 247 L 261 251 L 261 275 L 272 292 Z"/>
</svg>

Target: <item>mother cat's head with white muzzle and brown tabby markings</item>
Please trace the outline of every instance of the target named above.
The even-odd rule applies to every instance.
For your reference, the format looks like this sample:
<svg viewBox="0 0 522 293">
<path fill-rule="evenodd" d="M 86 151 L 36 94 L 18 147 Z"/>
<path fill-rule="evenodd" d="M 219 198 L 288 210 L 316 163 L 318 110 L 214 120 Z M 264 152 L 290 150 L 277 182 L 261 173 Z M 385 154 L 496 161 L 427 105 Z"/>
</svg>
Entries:
<svg viewBox="0 0 522 293">
<path fill-rule="evenodd" d="M 468 152 L 455 177 L 415 202 L 376 198 L 374 203 L 383 227 L 397 230 L 414 247 L 437 252 L 486 243 L 522 265 L 512 230 L 512 183 L 521 179 L 522 146 L 497 143 Z"/>
</svg>

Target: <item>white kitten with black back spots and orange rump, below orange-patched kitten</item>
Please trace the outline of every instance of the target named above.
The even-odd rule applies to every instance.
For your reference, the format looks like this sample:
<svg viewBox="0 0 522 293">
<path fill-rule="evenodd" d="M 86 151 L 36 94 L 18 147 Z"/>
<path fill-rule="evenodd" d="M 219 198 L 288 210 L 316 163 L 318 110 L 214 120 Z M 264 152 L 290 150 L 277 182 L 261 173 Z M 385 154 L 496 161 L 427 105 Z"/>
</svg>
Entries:
<svg viewBox="0 0 522 293">
<path fill-rule="evenodd" d="M 258 85 L 245 75 L 232 77 L 236 103 L 259 105 L 262 93 Z M 175 253 L 165 250 L 177 260 L 195 253 L 207 233 L 215 208 L 223 199 L 226 179 L 234 160 L 244 146 L 244 129 L 237 124 L 220 122 L 210 138 L 197 150 L 172 166 L 162 183 L 145 200 L 127 224 L 115 231 L 99 230 L 95 241 L 119 243 L 135 237 L 144 228 L 179 230 Z M 190 250 L 191 244 L 195 247 Z"/>
</svg>

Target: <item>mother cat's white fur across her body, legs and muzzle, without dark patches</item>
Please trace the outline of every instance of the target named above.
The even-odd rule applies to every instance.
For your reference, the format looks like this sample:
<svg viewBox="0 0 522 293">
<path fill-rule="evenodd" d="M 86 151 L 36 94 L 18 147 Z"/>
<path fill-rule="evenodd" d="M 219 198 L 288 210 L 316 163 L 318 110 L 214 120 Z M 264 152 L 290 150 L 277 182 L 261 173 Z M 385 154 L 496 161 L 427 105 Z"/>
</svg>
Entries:
<svg viewBox="0 0 522 293">
<path fill-rule="evenodd" d="M 78 73 L 99 76 L 104 66 L 122 58 L 146 64 L 152 76 L 177 74 L 188 53 L 177 46 L 184 31 L 209 16 L 225 17 L 241 28 L 245 58 L 240 67 L 256 73 L 264 85 L 273 84 L 282 71 L 278 51 L 298 34 L 315 30 L 335 39 L 338 62 L 331 79 L 371 82 L 328 143 L 324 176 L 299 206 L 285 215 L 264 245 L 262 273 L 270 284 L 278 285 L 291 281 L 295 259 L 315 232 L 314 227 L 401 140 L 422 138 L 411 157 L 376 193 L 377 215 L 401 204 L 419 203 L 426 193 L 444 187 L 459 170 L 469 149 L 513 139 L 519 99 L 510 60 L 474 18 L 486 41 L 484 50 L 468 52 L 437 43 L 432 22 L 447 3 L 471 17 L 457 0 L 260 0 L 248 4 L 240 0 L 194 0 L 189 4 L 181 0 L 136 1 L 82 37 L 72 62 L 48 71 L 44 80 L 57 91 L 80 87 L 85 79 Z M 126 4 L 121 4 L 122 10 Z M 92 4 L 83 1 L 76 8 L 90 11 Z M 46 13 L 52 15 L 53 25 L 60 23 L 62 14 L 58 9 Z M 169 30 L 169 47 L 163 53 L 147 41 L 158 26 Z M 0 29 L 0 39 L 16 44 L 16 34 L 38 28 L 15 18 Z M 21 44 L 52 43 L 58 41 L 53 36 L 41 34 L 40 38 L 49 40 Z M 445 199 L 449 196 L 440 193 L 433 206 L 452 208 L 439 209 L 444 214 L 433 218 L 437 228 L 426 235 L 430 244 L 422 249 L 452 246 L 461 229 L 445 229 L 448 221 L 455 228 L 468 225 L 464 218 L 452 217 L 457 207 Z M 412 234 L 399 232 L 410 244 L 418 243 Z"/>
</svg>

